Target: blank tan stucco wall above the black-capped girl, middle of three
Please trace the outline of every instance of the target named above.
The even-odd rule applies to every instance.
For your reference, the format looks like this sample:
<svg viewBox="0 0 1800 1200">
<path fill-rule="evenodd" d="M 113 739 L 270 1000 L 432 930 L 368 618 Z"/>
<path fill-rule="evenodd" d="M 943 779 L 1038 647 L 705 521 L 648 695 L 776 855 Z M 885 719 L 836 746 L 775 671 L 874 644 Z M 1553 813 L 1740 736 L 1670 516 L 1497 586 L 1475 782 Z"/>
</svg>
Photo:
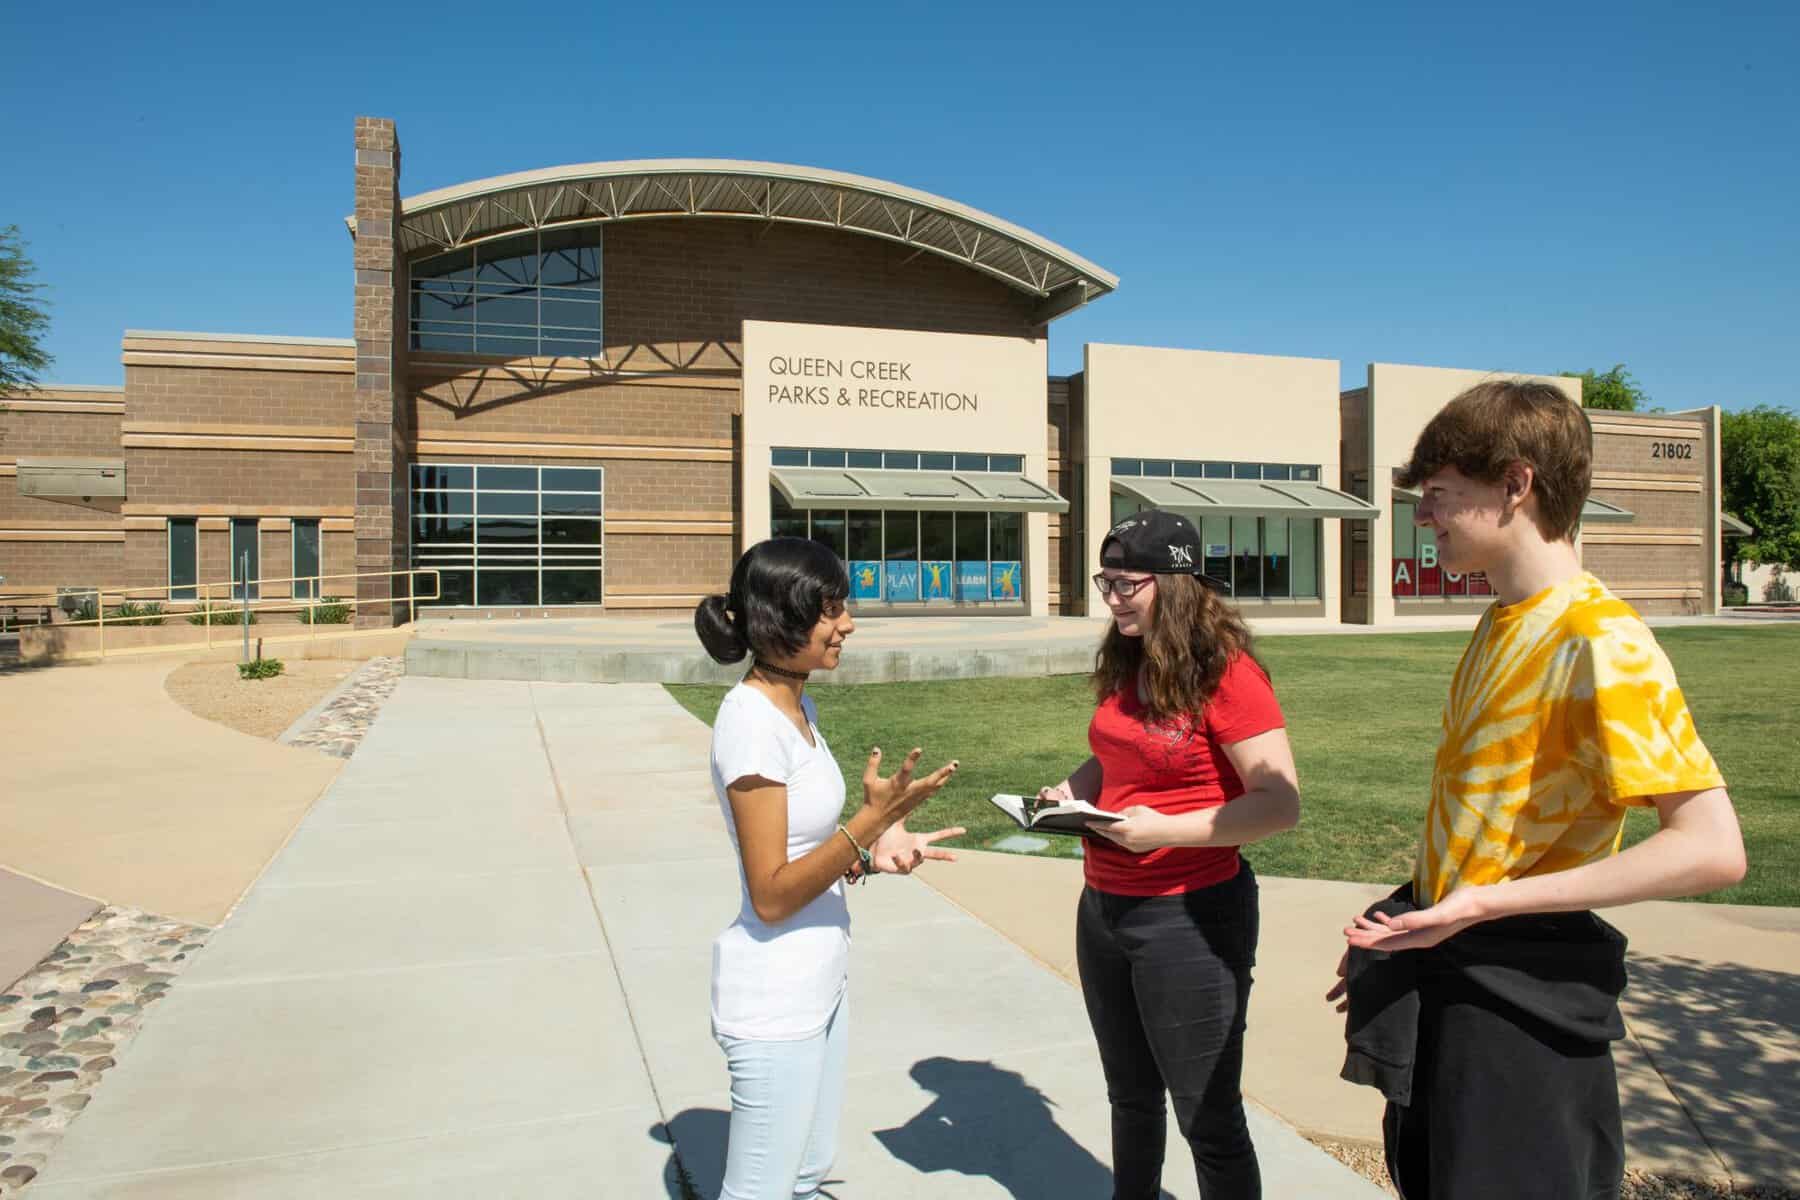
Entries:
<svg viewBox="0 0 1800 1200">
<path fill-rule="evenodd" d="M 1316 462 L 1319 482 L 1337 486 L 1336 358 L 1089 344 L 1084 380 L 1082 578 L 1100 570 L 1100 542 L 1112 527 L 1112 459 Z M 1337 621 L 1337 522 L 1321 524 L 1319 592 Z"/>
</svg>

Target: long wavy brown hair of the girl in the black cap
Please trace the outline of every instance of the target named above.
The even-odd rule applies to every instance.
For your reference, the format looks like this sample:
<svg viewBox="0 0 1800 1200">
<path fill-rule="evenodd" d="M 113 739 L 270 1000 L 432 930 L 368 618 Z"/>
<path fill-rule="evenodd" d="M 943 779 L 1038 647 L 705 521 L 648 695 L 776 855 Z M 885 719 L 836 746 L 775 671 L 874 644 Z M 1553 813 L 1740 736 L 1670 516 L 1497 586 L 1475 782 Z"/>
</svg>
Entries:
<svg viewBox="0 0 1800 1200">
<path fill-rule="evenodd" d="M 1141 667 L 1152 720 L 1199 714 L 1237 655 L 1255 658 L 1249 626 L 1229 603 L 1193 576 L 1156 576 L 1150 630 L 1125 637 L 1112 624 L 1100 639 L 1094 698 L 1136 693 Z"/>
</svg>

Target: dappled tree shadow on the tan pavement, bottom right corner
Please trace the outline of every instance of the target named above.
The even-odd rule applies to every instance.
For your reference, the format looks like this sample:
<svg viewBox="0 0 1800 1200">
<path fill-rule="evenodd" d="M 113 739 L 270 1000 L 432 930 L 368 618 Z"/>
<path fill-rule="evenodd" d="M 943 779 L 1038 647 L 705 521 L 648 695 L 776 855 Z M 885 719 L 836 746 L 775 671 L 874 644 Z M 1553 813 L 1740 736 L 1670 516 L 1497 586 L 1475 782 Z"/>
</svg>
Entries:
<svg viewBox="0 0 1800 1200">
<path fill-rule="evenodd" d="M 1631 1031 L 1739 1178 L 1775 1182 L 1800 1144 L 1800 975 L 1633 955 L 1620 1007 Z M 1622 1079 L 1624 1083 L 1624 1079 Z M 1627 1137 L 1649 1106 L 1620 1097 Z"/>
</svg>

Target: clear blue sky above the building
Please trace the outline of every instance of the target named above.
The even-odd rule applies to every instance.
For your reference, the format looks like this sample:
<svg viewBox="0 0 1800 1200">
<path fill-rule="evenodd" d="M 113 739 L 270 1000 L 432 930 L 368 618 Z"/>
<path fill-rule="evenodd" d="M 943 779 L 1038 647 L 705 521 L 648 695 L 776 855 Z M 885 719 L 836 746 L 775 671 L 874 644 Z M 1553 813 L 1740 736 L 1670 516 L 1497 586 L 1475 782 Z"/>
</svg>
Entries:
<svg viewBox="0 0 1800 1200">
<path fill-rule="evenodd" d="M 367 113 L 405 194 L 729 157 L 985 209 L 1121 279 L 1058 372 L 1622 362 L 1665 408 L 1800 407 L 1793 4 L 13 4 L 0 36 L 59 383 L 121 381 L 128 327 L 347 336 Z"/>
</svg>

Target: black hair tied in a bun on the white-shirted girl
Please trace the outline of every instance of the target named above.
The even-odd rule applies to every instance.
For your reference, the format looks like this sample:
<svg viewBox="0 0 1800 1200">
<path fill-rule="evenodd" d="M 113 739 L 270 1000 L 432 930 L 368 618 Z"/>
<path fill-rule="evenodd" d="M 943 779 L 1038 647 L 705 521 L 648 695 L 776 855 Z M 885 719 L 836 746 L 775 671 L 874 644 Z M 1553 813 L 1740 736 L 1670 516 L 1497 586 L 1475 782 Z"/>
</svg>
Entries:
<svg viewBox="0 0 1800 1200">
<path fill-rule="evenodd" d="M 693 610 L 693 631 L 716 662 L 747 653 L 785 658 L 805 649 L 828 603 L 850 597 L 850 574 L 830 547 L 810 538 L 769 538 L 731 569 L 731 592 Z"/>
</svg>

